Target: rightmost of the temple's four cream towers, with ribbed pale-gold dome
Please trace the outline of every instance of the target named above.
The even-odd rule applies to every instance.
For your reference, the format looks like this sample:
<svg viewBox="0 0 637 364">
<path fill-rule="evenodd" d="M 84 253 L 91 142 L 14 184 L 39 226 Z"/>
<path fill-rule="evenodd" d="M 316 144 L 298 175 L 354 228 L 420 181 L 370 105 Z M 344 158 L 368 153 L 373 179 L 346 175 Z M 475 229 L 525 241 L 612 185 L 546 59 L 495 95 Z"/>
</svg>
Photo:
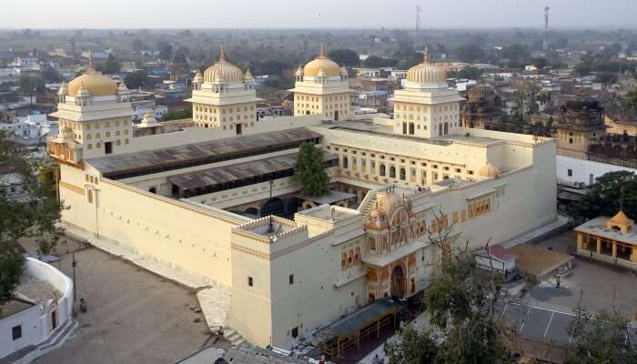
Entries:
<svg viewBox="0 0 637 364">
<path fill-rule="evenodd" d="M 458 90 L 447 85 L 447 72 L 430 60 L 425 47 L 422 63 L 407 72 L 405 88 L 394 92 L 394 133 L 434 137 L 460 127 Z"/>
</svg>

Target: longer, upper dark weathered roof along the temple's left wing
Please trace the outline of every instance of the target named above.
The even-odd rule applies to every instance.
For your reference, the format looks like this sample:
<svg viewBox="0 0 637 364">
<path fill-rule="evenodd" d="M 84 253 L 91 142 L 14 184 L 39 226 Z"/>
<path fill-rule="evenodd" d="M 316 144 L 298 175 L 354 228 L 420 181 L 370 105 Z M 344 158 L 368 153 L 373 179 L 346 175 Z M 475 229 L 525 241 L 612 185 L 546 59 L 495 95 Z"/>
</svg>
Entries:
<svg viewBox="0 0 637 364">
<path fill-rule="evenodd" d="M 86 161 L 99 170 L 104 177 L 119 179 L 203 166 L 240 157 L 258 156 L 278 150 L 292 149 L 304 141 L 319 138 L 319 133 L 305 127 L 298 127 L 249 136 L 233 136 L 177 147 L 96 157 Z"/>
</svg>

